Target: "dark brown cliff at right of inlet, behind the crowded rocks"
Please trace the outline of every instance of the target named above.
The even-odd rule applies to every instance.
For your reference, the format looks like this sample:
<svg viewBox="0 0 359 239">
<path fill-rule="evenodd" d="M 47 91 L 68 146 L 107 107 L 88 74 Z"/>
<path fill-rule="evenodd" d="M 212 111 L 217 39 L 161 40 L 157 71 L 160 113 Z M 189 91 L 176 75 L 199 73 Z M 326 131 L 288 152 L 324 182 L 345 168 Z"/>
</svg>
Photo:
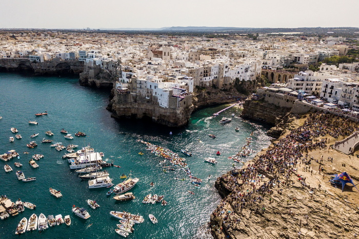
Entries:
<svg viewBox="0 0 359 239">
<path fill-rule="evenodd" d="M 247 99 L 243 104 L 241 117 L 277 125 L 291 108 L 279 107 L 263 100 Z M 276 133 L 277 134 L 277 133 Z"/>
</svg>

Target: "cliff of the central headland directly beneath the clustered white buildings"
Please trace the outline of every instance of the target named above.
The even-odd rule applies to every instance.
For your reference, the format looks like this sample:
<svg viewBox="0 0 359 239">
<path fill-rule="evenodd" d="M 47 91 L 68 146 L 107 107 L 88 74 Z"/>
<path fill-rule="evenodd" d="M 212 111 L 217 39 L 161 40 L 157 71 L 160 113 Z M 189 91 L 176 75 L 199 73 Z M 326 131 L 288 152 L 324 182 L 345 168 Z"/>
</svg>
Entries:
<svg viewBox="0 0 359 239">
<path fill-rule="evenodd" d="M 153 122 L 179 127 L 186 125 L 193 112 L 192 96 L 188 95 L 184 100 L 169 98 L 170 107 L 162 107 L 157 103 L 157 98 L 151 96 L 145 98 L 135 94 L 119 94 L 114 91 L 108 110 L 114 118 L 151 118 Z M 179 107 L 178 107 L 179 106 Z"/>
</svg>

